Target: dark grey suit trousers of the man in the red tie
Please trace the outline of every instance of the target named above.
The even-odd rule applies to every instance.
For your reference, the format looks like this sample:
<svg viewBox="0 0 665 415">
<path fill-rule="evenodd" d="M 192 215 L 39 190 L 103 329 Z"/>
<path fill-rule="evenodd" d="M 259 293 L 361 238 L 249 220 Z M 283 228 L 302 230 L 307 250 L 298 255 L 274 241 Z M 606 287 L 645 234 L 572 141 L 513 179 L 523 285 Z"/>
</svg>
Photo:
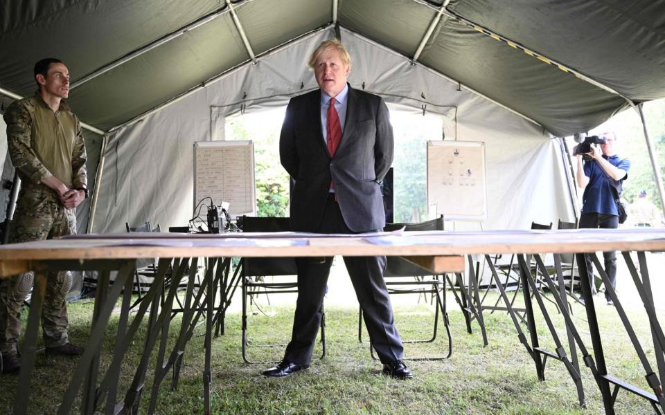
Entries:
<svg viewBox="0 0 665 415">
<path fill-rule="evenodd" d="M 351 234 L 339 205 L 330 194 L 317 233 Z M 296 259 L 298 266 L 298 300 L 291 342 L 285 359 L 298 365 L 310 365 L 314 342 L 321 325 L 321 305 L 332 265 L 332 257 Z M 404 347 L 395 327 L 388 290 L 383 279 L 386 257 L 344 257 L 351 277 L 369 338 L 382 363 L 401 360 Z"/>
</svg>

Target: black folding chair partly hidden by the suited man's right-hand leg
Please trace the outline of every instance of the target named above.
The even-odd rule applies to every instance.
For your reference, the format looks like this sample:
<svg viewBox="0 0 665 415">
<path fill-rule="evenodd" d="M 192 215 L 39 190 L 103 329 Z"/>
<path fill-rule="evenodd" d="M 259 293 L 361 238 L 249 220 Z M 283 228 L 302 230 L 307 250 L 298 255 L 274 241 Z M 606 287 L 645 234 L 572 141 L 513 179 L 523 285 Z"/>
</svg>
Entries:
<svg viewBox="0 0 665 415">
<path fill-rule="evenodd" d="M 406 231 L 426 231 L 443 230 L 443 216 L 432 219 L 431 221 L 420 223 L 387 223 L 385 231 L 398 230 L 405 228 Z M 434 308 L 434 324 L 432 327 L 432 337 L 423 340 L 402 340 L 404 343 L 431 343 L 436 340 L 438 331 L 439 312 L 443 316 L 443 324 L 448 336 L 448 353 L 446 356 L 437 357 L 414 357 L 407 360 L 442 360 L 450 358 L 452 354 L 452 335 L 450 333 L 450 323 L 445 303 L 445 278 L 440 275 L 432 275 L 428 270 L 413 264 L 401 257 L 387 257 L 386 270 L 384 271 L 386 286 L 390 294 L 418 294 L 418 301 L 424 298 L 427 302 L 427 295 L 430 297 L 430 304 L 436 304 Z M 443 295 L 441 294 L 443 292 Z M 358 313 L 358 340 L 362 342 L 362 308 Z M 370 353 L 373 359 L 373 347 L 370 344 Z"/>
</svg>

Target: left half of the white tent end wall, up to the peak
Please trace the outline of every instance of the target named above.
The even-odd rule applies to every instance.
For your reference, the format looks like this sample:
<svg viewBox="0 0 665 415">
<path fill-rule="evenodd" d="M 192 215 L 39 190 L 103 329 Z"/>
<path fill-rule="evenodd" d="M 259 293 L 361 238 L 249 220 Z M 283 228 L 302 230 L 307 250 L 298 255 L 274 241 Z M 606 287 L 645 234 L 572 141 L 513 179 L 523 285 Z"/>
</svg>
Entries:
<svg viewBox="0 0 665 415">
<path fill-rule="evenodd" d="M 285 105 L 299 93 L 301 81 L 313 89 L 316 82 L 303 56 L 310 42 L 329 35 L 303 37 L 112 133 L 90 232 L 123 232 L 125 222 L 150 221 L 162 229 L 186 225 L 193 216 L 193 145 L 210 140 L 211 107 L 231 114 L 241 104 Z"/>
</svg>

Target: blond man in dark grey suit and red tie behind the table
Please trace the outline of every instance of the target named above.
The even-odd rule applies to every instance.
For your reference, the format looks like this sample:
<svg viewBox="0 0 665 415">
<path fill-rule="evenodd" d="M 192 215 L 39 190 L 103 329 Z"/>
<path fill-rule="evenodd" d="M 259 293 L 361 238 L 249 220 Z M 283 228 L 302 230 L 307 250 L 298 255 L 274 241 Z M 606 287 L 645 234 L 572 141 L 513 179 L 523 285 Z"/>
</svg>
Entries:
<svg viewBox="0 0 665 415">
<path fill-rule="evenodd" d="M 379 232 L 385 225 L 379 183 L 393 160 L 393 129 L 377 95 L 346 83 L 351 57 L 337 40 L 322 42 L 309 62 L 320 89 L 289 102 L 279 154 L 294 179 L 294 231 L 353 234 Z M 344 257 L 383 374 L 412 378 L 393 321 L 383 272 L 386 257 Z M 291 342 L 284 359 L 263 371 L 289 376 L 307 369 L 321 324 L 332 257 L 296 259 L 298 300 Z"/>
</svg>

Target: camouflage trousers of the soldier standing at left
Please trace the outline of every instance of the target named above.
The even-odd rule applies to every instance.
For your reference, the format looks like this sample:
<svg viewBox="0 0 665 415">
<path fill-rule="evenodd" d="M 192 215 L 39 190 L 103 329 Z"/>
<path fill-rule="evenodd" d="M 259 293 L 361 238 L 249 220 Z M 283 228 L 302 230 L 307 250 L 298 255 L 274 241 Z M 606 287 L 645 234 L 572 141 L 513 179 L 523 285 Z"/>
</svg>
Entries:
<svg viewBox="0 0 665 415">
<path fill-rule="evenodd" d="M 24 182 L 25 183 L 25 182 Z M 41 241 L 76 234 L 76 211 L 60 204 L 53 190 L 44 185 L 21 186 L 16 213 L 10 229 L 10 243 Z M 21 305 L 34 282 L 34 273 L 0 278 L 0 352 L 17 351 L 21 334 Z M 44 345 L 66 344 L 67 303 L 71 273 L 50 273 L 42 310 Z"/>
</svg>

